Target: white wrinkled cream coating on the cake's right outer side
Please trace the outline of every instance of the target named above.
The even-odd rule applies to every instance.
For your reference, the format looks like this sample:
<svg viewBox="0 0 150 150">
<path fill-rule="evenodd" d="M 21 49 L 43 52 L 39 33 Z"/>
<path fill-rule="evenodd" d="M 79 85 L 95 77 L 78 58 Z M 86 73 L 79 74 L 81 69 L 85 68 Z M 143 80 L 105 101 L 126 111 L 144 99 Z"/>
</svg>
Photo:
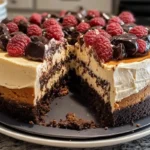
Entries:
<svg viewBox="0 0 150 150">
<path fill-rule="evenodd" d="M 150 84 L 150 59 L 118 64 L 113 78 L 116 93 L 115 101 L 138 93 Z"/>
</svg>

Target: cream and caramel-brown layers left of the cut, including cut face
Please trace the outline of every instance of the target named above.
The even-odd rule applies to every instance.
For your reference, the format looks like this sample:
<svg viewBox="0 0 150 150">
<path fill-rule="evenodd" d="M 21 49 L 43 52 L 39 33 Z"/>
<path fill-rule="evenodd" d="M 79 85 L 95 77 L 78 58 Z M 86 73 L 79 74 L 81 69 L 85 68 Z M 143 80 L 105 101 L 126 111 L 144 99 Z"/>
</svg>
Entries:
<svg viewBox="0 0 150 150">
<path fill-rule="evenodd" d="M 35 106 L 37 101 L 46 94 L 46 91 L 50 90 L 59 81 L 59 78 L 67 72 L 65 66 L 61 68 L 61 64 L 66 59 L 67 54 L 63 43 L 54 39 L 48 45 L 45 45 L 45 59 L 43 63 L 30 61 L 23 57 L 10 57 L 5 52 L 0 52 L 0 87 L 3 87 L 0 91 L 2 90 L 2 94 L 6 96 L 6 99 Z M 55 71 L 56 74 L 54 73 Z M 47 80 L 47 83 L 44 82 L 45 85 L 41 91 L 41 78 L 44 75 L 50 76 L 50 78 Z M 27 89 L 32 89 L 33 93 L 30 97 L 26 97 L 27 100 L 25 100 L 24 95 L 26 95 Z M 22 98 L 20 98 L 20 94 L 22 94 Z M 30 91 L 29 94 L 31 94 Z"/>
</svg>

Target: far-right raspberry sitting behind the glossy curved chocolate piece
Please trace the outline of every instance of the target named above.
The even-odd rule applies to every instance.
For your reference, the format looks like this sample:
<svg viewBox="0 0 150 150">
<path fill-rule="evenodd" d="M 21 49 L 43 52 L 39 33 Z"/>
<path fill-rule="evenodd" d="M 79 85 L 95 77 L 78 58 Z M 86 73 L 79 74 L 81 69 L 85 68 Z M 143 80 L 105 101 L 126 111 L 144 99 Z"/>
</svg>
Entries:
<svg viewBox="0 0 150 150">
<path fill-rule="evenodd" d="M 141 38 L 148 34 L 148 30 L 144 26 L 135 26 L 129 30 L 129 33 L 135 34 L 137 37 Z"/>
</svg>

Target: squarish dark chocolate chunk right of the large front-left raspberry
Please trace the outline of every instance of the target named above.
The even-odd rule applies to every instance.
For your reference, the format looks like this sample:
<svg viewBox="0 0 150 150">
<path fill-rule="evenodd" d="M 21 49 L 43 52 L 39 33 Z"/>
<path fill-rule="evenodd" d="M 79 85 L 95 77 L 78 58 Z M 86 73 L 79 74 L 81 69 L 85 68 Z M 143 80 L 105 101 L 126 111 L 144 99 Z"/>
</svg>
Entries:
<svg viewBox="0 0 150 150">
<path fill-rule="evenodd" d="M 37 36 L 31 37 L 31 42 L 28 44 L 25 50 L 25 56 L 28 59 L 43 61 L 45 45 L 40 40 L 41 39 Z"/>
</svg>

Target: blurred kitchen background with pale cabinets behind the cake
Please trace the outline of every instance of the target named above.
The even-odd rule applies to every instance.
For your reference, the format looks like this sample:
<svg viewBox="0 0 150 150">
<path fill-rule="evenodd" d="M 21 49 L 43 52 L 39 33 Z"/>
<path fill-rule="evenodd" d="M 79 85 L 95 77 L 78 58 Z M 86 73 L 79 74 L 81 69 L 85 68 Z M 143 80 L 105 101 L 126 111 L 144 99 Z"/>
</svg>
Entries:
<svg viewBox="0 0 150 150">
<path fill-rule="evenodd" d="M 137 24 L 150 24 L 150 0 L 0 0 L 0 20 L 6 15 L 12 18 L 18 14 L 28 17 L 32 12 L 74 11 L 79 6 L 111 14 L 129 10 L 136 16 Z"/>
</svg>

